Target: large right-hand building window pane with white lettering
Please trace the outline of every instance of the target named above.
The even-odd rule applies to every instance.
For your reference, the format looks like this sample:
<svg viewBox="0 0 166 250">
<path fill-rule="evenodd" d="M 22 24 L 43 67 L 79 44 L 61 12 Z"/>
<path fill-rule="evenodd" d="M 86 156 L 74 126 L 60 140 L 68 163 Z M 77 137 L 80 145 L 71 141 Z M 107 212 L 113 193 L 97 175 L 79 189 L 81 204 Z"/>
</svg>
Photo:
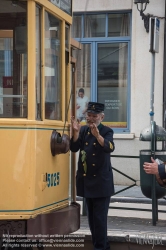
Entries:
<svg viewBox="0 0 166 250">
<path fill-rule="evenodd" d="M 98 101 L 105 104 L 105 122 L 127 127 L 128 44 L 99 44 Z"/>
</svg>

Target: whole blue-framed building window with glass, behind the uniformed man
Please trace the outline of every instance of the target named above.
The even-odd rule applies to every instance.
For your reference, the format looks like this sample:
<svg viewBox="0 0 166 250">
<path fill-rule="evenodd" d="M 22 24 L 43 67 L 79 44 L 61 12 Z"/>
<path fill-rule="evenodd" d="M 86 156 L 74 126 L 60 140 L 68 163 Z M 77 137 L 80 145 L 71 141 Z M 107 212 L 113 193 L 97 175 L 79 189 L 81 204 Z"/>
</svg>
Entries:
<svg viewBox="0 0 166 250">
<path fill-rule="evenodd" d="M 83 88 L 89 101 L 105 104 L 108 126 L 129 132 L 130 13 L 74 14 L 72 37 L 83 44 L 75 55 L 77 98 Z"/>
</svg>

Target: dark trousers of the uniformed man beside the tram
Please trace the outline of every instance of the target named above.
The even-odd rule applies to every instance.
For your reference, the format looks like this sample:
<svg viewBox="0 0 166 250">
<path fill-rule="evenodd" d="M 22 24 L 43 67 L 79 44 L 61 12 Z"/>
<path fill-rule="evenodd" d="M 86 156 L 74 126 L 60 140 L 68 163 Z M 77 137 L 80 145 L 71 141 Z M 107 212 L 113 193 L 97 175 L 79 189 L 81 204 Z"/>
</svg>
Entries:
<svg viewBox="0 0 166 250">
<path fill-rule="evenodd" d="M 85 198 L 94 250 L 110 250 L 107 238 L 107 215 L 110 197 Z"/>
</svg>

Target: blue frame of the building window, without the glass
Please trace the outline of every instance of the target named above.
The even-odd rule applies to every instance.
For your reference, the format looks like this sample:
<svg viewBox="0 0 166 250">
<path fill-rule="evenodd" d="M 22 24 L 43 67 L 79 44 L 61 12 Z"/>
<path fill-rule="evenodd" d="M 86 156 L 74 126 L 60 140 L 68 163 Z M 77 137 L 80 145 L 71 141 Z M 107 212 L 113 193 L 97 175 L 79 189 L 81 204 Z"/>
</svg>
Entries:
<svg viewBox="0 0 166 250">
<path fill-rule="evenodd" d="M 123 37 L 108 37 L 108 15 L 109 14 L 129 14 L 130 23 L 130 36 Z M 91 44 L 91 101 L 97 101 L 97 46 L 101 43 L 127 43 L 128 44 L 128 71 L 127 71 L 127 127 L 116 128 L 112 127 L 115 133 L 130 133 L 131 126 L 131 11 L 119 11 L 119 12 L 88 12 L 88 14 L 106 14 L 106 31 L 105 37 L 84 37 L 84 17 L 86 14 L 81 12 L 74 12 L 73 16 L 81 15 L 81 37 L 74 37 L 75 40 L 82 44 Z M 94 84 L 95 83 L 95 84 Z M 103 121 L 104 123 L 104 121 Z"/>
</svg>

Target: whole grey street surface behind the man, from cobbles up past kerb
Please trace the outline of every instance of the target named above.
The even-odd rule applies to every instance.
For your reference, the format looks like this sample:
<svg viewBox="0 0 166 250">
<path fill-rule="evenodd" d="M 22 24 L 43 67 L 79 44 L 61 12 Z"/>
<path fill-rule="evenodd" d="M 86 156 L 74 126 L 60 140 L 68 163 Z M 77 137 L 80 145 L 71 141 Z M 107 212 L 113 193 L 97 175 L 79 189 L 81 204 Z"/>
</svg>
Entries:
<svg viewBox="0 0 166 250">
<path fill-rule="evenodd" d="M 122 188 L 124 187 L 116 186 L 116 191 L 119 191 Z M 158 210 L 165 212 L 166 200 L 160 199 L 158 201 Z M 81 205 L 83 204 L 82 201 L 79 202 Z M 160 249 L 160 247 L 165 247 L 166 213 L 159 212 L 159 219 L 156 222 L 156 226 L 153 226 L 152 211 L 145 212 L 123 209 L 123 207 L 129 207 L 151 210 L 152 204 L 150 203 L 151 199 L 146 198 L 142 194 L 140 187 L 134 187 L 113 196 L 111 198 L 108 213 L 108 237 L 110 242 L 117 244 L 123 242 L 127 244 L 127 246 L 130 243 L 135 243 L 137 246 L 151 244 L 152 248 L 154 245 L 158 245 L 158 249 Z M 120 209 L 116 207 L 120 207 Z M 91 233 L 86 215 L 81 215 L 81 226 L 75 234 L 83 234 L 85 235 L 86 240 L 91 241 Z"/>
</svg>

